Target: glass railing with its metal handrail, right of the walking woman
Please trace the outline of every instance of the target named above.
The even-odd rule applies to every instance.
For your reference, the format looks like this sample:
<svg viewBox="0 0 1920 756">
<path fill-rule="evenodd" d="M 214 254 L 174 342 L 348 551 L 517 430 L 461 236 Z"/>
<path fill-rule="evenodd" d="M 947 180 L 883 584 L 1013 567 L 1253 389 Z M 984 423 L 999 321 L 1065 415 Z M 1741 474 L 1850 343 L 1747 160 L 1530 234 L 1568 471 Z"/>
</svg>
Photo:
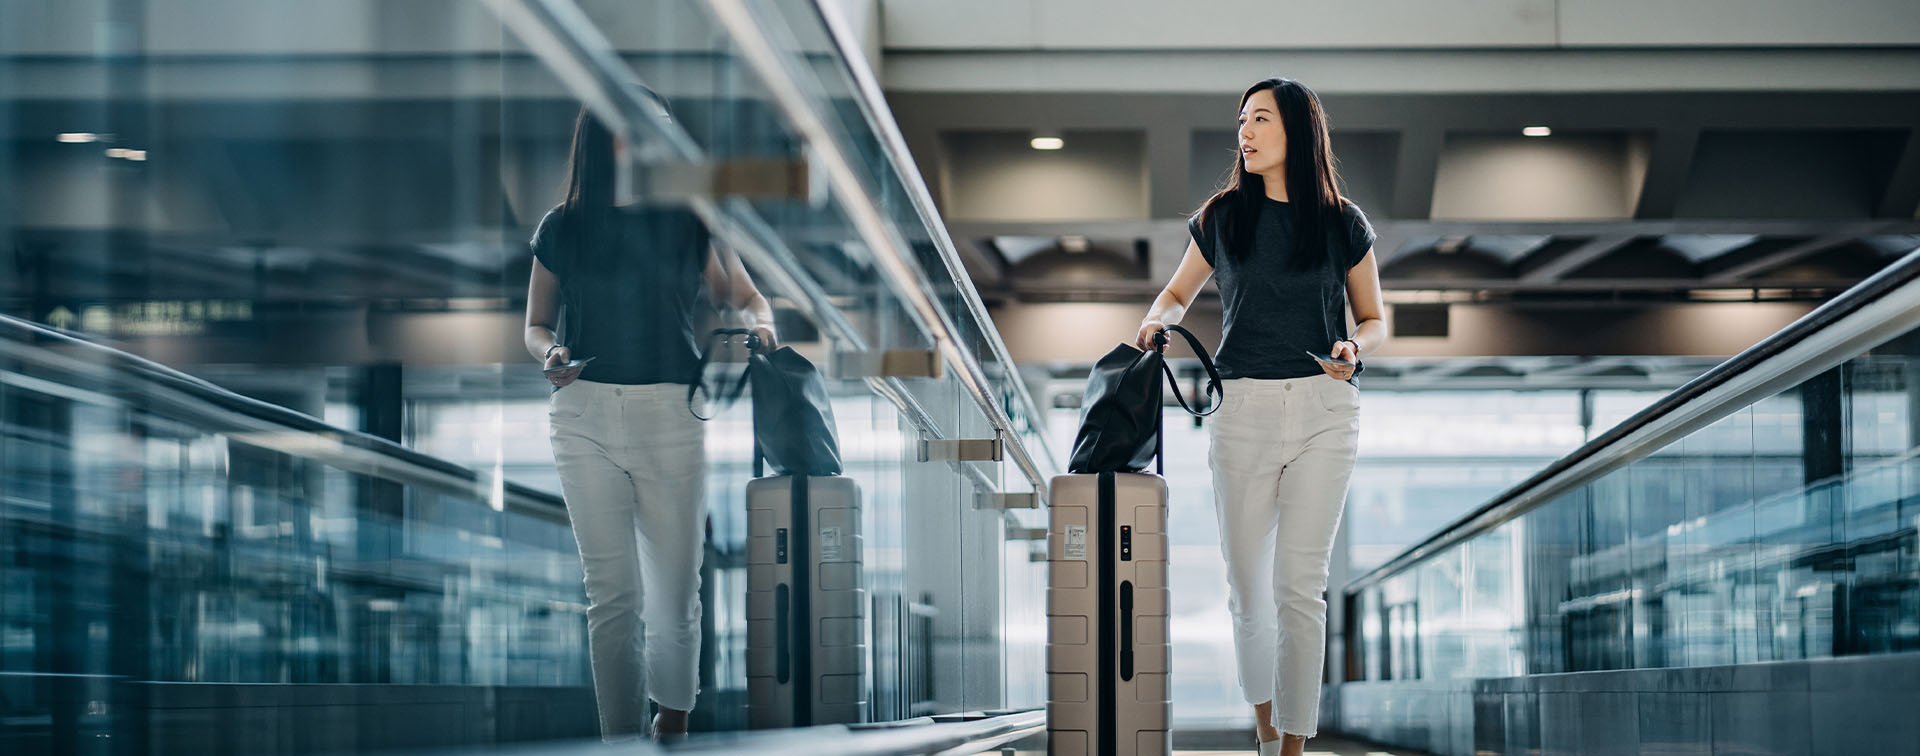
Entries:
<svg viewBox="0 0 1920 756">
<path fill-rule="evenodd" d="M 1348 679 L 1920 649 L 1920 253 L 1346 587 Z"/>
</svg>

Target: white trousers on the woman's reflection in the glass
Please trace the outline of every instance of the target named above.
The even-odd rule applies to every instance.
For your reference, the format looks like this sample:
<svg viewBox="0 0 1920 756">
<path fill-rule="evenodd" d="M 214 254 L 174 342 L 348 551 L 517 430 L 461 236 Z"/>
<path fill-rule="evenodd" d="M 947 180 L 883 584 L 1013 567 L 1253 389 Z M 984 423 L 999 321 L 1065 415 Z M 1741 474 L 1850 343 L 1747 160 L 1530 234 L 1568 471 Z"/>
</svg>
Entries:
<svg viewBox="0 0 1920 756">
<path fill-rule="evenodd" d="M 647 697 L 693 710 L 707 541 L 707 428 L 680 384 L 576 380 L 547 411 L 580 541 L 603 739 L 643 735 Z"/>
</svg>

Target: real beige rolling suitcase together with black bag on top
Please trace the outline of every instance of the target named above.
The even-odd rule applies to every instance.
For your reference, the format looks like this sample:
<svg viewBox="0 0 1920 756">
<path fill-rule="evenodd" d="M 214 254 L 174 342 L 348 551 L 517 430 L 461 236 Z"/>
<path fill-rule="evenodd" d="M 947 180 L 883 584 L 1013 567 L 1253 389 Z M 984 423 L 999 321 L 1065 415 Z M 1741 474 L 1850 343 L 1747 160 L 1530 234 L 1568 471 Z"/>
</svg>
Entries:
<svg viewBox="0 0 1920 756">
<path fill-rule="evenodd" d="M 1167 332 L 1212 378 L 1210 409 L 1181 395 Z M 1046 750 L 1052 756 L 1173 752 L 1167 672 L 1167 482 L 1162 376 L 1187 413 L 1213 414 L 1221 384 L 1190 332 L 1167 326 L 1154 351 L 1119 345 L 1087 378 L 1069 474 L 1050 484 L 1046 524 Z M 1139 470 L 1139 472 L 1137 472 Z"/>
</svg>

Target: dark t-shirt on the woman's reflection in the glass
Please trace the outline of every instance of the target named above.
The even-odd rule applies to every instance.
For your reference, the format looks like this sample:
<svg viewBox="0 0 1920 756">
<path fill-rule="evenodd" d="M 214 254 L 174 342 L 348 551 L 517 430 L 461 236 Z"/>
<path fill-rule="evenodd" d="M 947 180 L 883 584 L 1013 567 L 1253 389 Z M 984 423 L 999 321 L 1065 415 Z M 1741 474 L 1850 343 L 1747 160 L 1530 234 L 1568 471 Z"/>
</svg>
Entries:
<svg viewBox="0 0 1920 756">
<path fill-rule="evenodd" d="M 582 380 L 699 380 L 693 307 L 707 267 L 707 226 L 682 207 L 616 207 L 591 248 L 559 207 L 534 228 L 534 257 L 561 280 L 559 342 L 595 357 Z"/>
</svg>

